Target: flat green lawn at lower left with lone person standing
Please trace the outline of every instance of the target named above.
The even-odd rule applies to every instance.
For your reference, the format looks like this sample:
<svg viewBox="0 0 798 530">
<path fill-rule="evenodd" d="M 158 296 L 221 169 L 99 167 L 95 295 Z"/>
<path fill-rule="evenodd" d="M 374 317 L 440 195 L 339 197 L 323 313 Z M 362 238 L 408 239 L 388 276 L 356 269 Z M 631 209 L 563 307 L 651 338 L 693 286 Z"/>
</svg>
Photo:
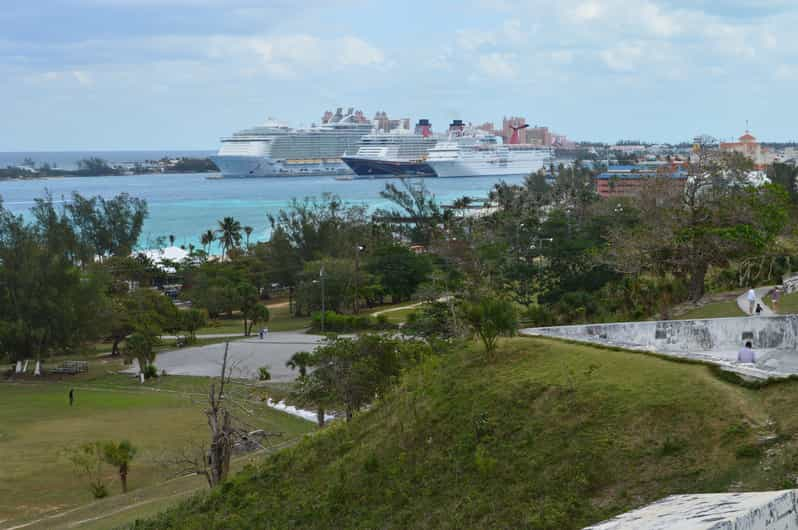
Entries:
<svg viewBox="0 0 798 530">
<path fill-rule="evenodd" d="M 114 373 L 122 367 L 118 360 L 90 366 L 80 376 L 0 383 L 0 524 L 91 502 L 86 480 L 67 459 L 69 449 L 81 443 L 130 440 L 139 450 L 129 475 L 133 495 L 169 478 L 156 462 L 159 456 L 207 438 L 208 378 L 167 376 L 139 385 Z M 70 388 L 75 389 L 73 407 Z M 247 392 L 248 387 L 237 386 L 230 395 Z M 246 408 L 252 411 L 246 418 L 250 427 L 283 432 L 281 442 L 314 428 L 259 403 L 247 402 Z M 110 467 L 106 471 L 109 490 L 117 496 L 118 480 Z"/>
</svg>

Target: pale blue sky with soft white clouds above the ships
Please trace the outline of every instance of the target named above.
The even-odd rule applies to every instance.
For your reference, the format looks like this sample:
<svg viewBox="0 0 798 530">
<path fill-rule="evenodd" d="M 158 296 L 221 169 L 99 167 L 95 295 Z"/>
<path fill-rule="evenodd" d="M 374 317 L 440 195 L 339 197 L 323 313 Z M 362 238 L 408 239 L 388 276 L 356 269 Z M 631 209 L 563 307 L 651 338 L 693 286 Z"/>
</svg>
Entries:
<svg viewBox="0 0 798 530">
<path fill-rule="evenodd" d="M 214 149 L 273 117 L 798 139 L 794 0 L 3 0 L 0 151 Z"/>
</svg>

